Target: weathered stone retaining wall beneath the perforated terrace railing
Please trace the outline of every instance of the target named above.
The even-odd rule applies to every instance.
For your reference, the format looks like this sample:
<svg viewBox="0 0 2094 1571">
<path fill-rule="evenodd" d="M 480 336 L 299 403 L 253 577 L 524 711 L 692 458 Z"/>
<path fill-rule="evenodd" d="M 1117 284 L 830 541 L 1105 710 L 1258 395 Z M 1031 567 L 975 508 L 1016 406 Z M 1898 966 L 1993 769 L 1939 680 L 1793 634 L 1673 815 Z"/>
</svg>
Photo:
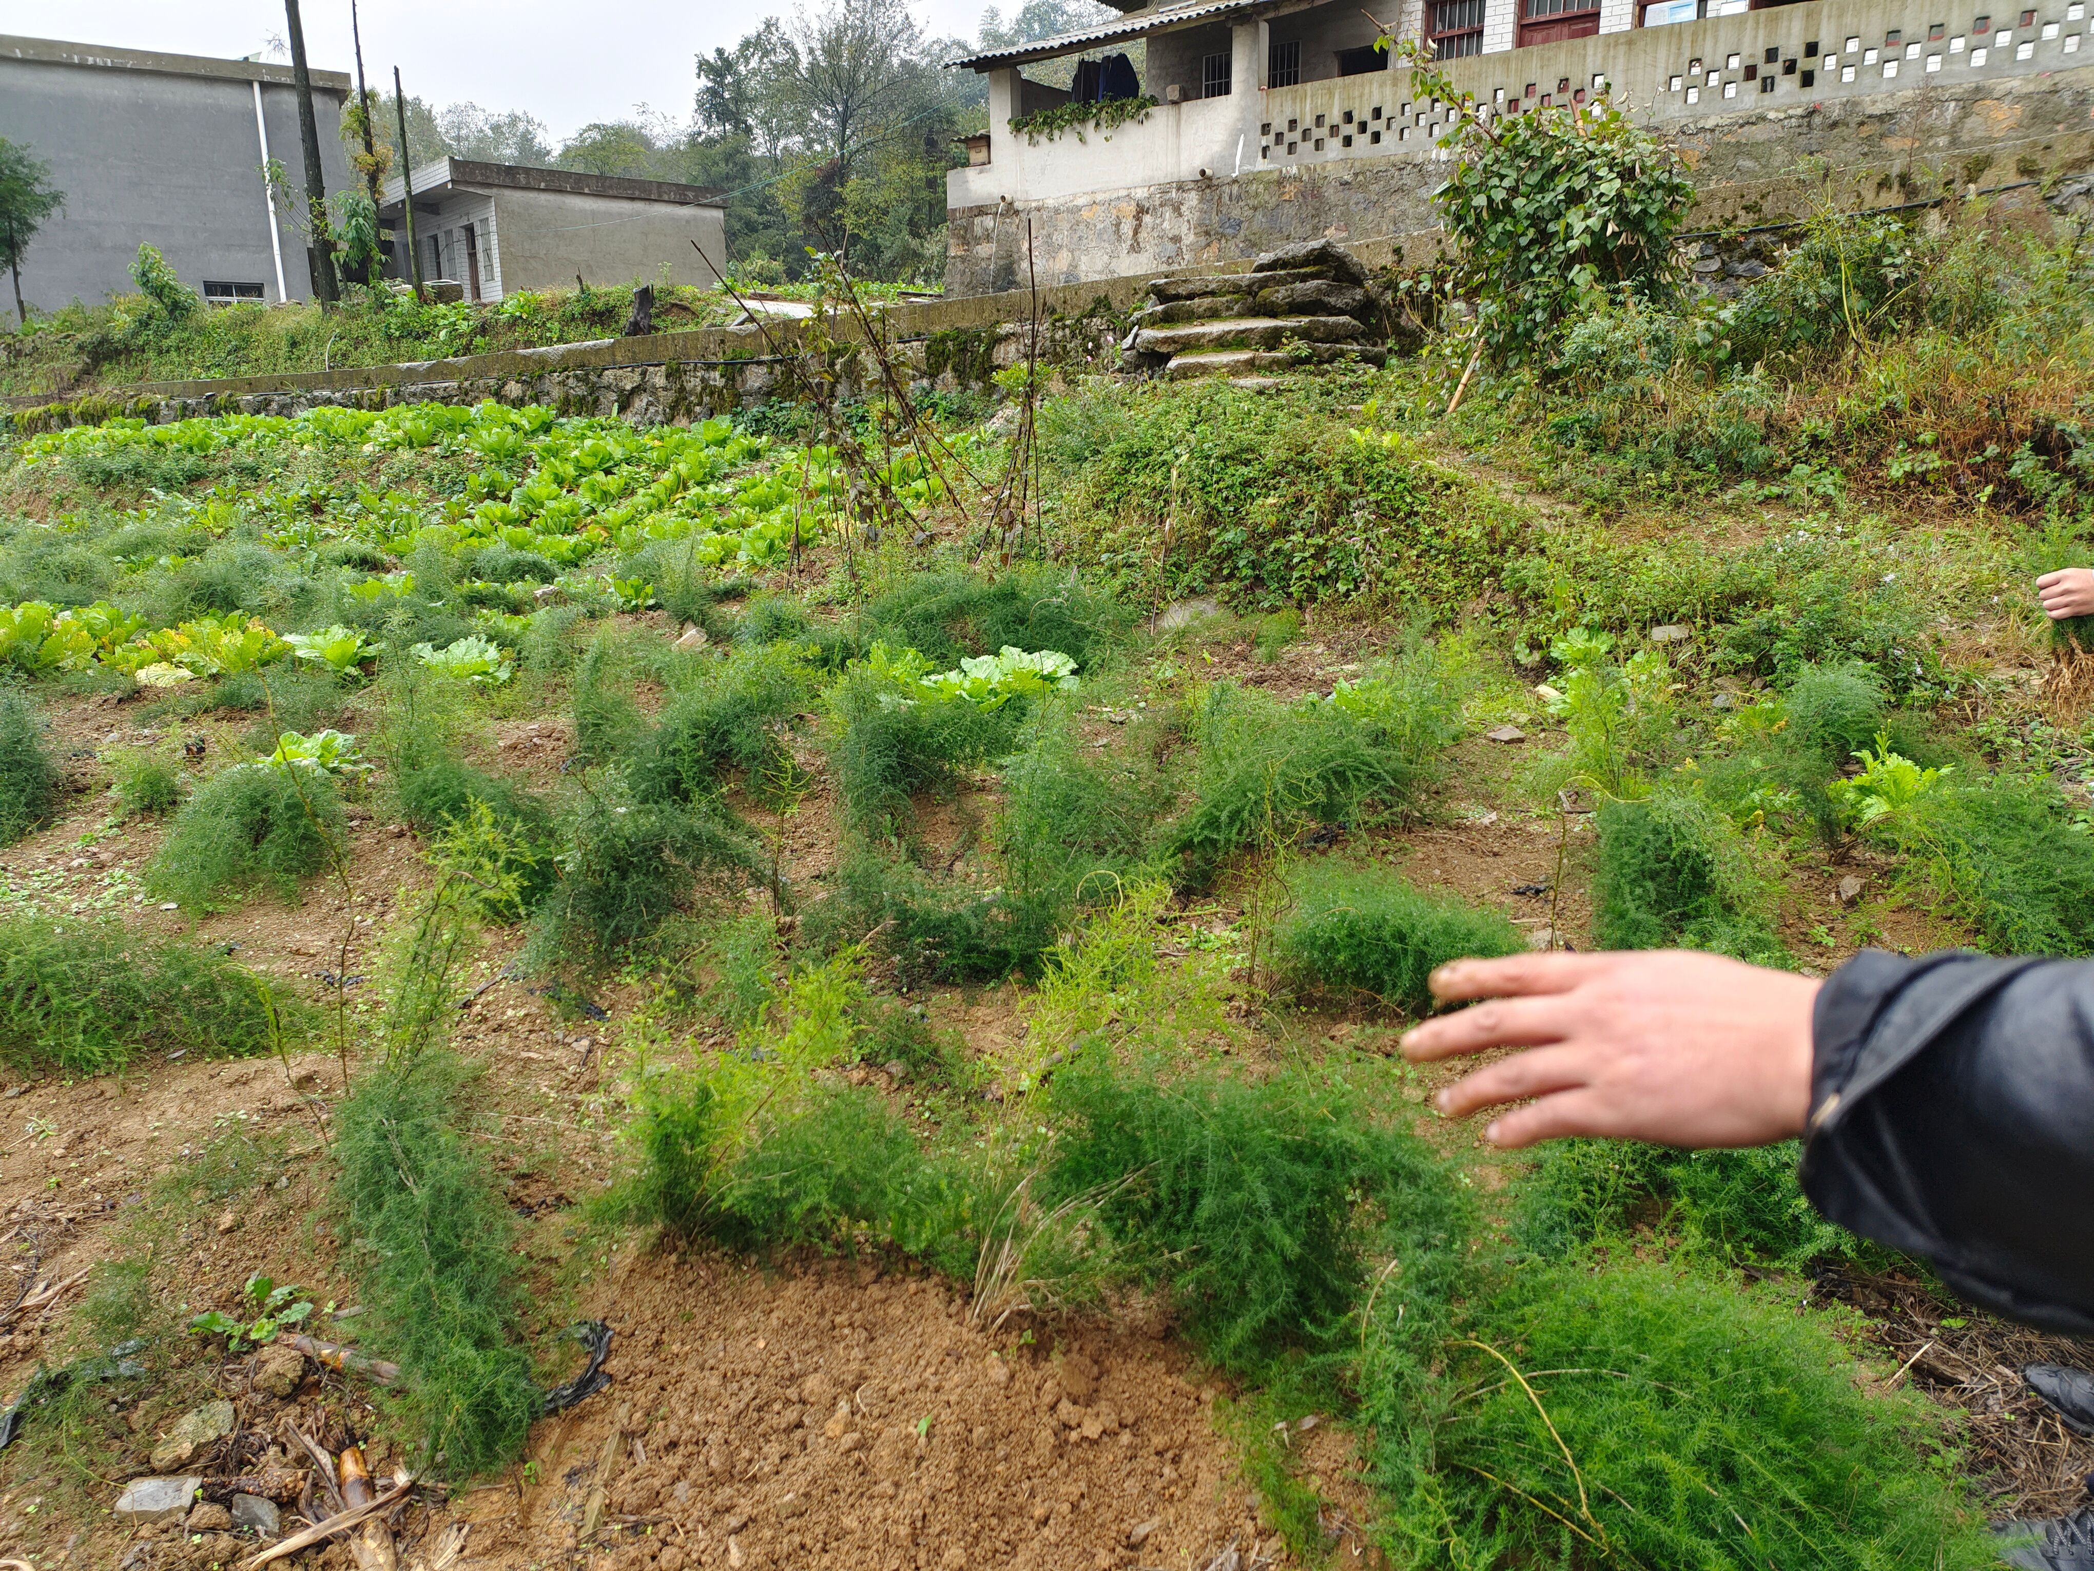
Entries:
<svg viewBox="0 0 2094 1571">
<path fill-rule="evenodd" d="M 1690 29 L 1633 38 L 1661 31 Z M 1522 54 L 1510 59 L 1518 65 Z M 1824 161 L 1841 205 L 1893 205 L 1947 186 L 1991 189 L 2094 168 L 2094 67 L 1962 84 L 1931 78 L 1912 92 L 1790 98 L 1753 115 L 1675 115 L 1667 132 L 1694 165 L 1694 228 L 1807 214 L 1818 186 L 1803 159 Z M 949 295 L 1018 287 L 1028 222 L 1032 268 L 1055 285 L 1227 266 L 1313 237 L 1344 241 L 1372 264 L 1416 262 L 1439 247 L 1430 195 L 1445 176 L 1430 153 L 1340 157 L 1267 163 L 1233 180 L 961 207 L 951 214 L 944 287 Z"/>
</svg>

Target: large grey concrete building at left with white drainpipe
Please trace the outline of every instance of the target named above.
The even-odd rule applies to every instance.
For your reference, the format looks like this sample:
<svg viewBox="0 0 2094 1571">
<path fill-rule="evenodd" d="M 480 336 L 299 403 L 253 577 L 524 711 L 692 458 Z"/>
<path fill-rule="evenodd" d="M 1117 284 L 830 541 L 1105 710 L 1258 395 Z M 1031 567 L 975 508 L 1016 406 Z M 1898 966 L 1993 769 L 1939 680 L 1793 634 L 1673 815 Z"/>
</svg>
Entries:
<svg viewBox="0 0 2094 1571">
<path fill-rule="evenodd" d="M 348 92 L 341 71 L 312 71 L 329 191 L 350 178 Z M 262 176 L 276 159 L 306 189 L 289 65 L 0 36 L 0 136 L 25 142 L 65 193 L 21 264 L 31 306 L 134 291 L 140 241 L 211 302 L 312 297 L 306 243 Z"/>
</svg>

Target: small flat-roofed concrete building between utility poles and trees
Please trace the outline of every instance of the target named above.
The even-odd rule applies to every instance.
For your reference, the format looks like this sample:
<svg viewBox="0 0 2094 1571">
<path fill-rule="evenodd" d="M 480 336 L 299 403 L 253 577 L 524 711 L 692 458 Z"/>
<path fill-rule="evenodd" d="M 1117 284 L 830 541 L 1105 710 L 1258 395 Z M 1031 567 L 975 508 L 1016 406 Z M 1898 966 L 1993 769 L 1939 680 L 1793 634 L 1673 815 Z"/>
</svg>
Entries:
<svg viewBox="0 0 2094 1571">
<path fill-rule="evenodd" d="M 704 186 L 452 157 L 413 174 L 421 276 L 450 279 L 467 300 L 557 289 L 576 276 L 653 283 L 664 266 L 672 283 L 708 287 L 712 268 L 727 268 L 725 203 Z M 410 276 L 402 191 L 400 178 L 389 180 L 379 203 L 379 222 L 394 233 L 392 279 Z"/>
</svg>

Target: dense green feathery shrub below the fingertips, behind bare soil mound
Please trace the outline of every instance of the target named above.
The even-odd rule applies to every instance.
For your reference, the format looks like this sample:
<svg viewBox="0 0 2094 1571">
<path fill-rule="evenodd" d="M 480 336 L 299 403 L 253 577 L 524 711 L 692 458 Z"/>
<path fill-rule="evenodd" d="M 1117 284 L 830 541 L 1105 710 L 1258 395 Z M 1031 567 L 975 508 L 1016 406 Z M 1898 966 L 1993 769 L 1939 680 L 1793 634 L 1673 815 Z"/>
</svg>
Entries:
<svg viewBox="0 0 2094 1571">
<path fill-rule="evenodd" d="M 1342 1072 L 1261 1081 L 1093 1049 L 1051 1106 L 1043 1202 L 1097 1196 L 1122 1265 L 1168 1288 L 1219 1364 L 1338 1334 L 1369 1244 L 1403 1259 L 1407 1292 L 1439 1295 L 1460 1267 L 1470 1215 L 1447 1167 Z"/>
</svg>

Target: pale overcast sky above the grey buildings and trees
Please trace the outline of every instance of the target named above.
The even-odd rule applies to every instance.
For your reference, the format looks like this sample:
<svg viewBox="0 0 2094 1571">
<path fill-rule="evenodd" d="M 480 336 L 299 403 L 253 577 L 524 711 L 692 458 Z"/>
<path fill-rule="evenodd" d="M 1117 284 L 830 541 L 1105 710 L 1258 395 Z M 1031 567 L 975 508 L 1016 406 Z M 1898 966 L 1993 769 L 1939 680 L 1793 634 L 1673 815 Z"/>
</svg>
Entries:
<svg viewBox="0 0 2094 1571">
<path fill-rule="evenodd" d="M 637 105 L 685 119 L 693 57 L 798 0 L 358 0 L 373 90 L 400 67 L 410 96 L 524 109 L 555 140 Z M 917 0 L 934 34 L 974 34 L 986 0 Z M 1016 10 L 1007 0 L 1005 13 Z M 314 69 L 354 71 L 350 0 L 304 0 Z M 0 34 L 237 59 L 283 38 L 281 0 L 0 0 Z"/>
</svg>

